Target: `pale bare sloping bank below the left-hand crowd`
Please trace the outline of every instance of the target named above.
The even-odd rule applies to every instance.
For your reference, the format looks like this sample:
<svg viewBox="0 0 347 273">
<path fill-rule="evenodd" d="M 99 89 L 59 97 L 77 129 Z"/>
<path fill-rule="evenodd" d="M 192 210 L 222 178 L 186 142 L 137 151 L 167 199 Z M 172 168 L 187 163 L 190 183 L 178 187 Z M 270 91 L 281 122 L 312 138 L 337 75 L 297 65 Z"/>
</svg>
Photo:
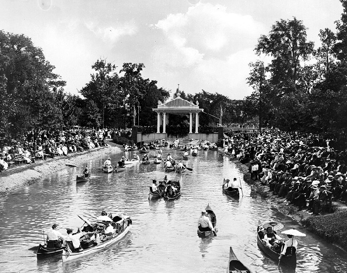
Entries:
<svg viewBox="0 0 347 273">
<path fill-rule="evenodd" d="M 66 168 L 66 164 L 81 166 L 90 158 L 96 159 L 107 154 L 120 152 L 118 147 L 101 147 L 83 153 L 73 153 L 66 157 L 55 157 L 48 160 L 37 160 L 34 164 L 10 167 L 0 173 L 0 196 L 18 188 L 35 183 L 46 175 Z"/>
</svg>

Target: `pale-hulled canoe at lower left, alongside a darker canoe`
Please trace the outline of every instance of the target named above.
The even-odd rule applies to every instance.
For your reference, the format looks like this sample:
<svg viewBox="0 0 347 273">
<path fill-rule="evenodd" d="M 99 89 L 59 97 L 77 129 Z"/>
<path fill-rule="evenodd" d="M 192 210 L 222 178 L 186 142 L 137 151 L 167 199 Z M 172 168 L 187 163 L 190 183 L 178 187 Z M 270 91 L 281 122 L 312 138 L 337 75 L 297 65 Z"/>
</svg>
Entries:
<svg viewBox="0 0 347 273">
<path fill-rule="evenodd" d="M 121 218 L 119 221 L 115 223 L 116 225 L 116 231 L 113 235 L 108 236 L 102 240 L 95 239 L 95 240 L 83 240 L 81 241 L 81 246 L 83 248 L 82 251 L 75 251 L 72 245 L 72 242 L 67 242 L 67 246 L 62 251 L 62 262 L 69 262 L 75 259 L 78 259 L 80 257 L 95 253 L 101 249 L 104 249 L 116 242 L 118 242 L 120 239 L 122 239 L 126 233 L 129 231 L 131 226 L 131 219 L 130 217 L 126 216 L 124 218 Z M 100 233 L 96 232 L 96 236 L 98 236 Z M 83 245 L 82 245 L 83 242 Z"/>
</svg>

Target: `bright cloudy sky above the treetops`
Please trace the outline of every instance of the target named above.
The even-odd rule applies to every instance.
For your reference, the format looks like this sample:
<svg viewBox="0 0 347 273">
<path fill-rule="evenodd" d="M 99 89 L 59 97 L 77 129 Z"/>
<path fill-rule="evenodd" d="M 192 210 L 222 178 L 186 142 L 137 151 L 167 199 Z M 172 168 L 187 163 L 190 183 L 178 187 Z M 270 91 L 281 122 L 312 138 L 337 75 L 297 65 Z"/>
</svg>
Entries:
<svg viewBox="0 0 347 273">
<path fill-rule="evenodd" d="M 295 16 L 319 47 L 320 29 L 335 31 L 339 0 L 0 0 L 0 29 L 30 37 L 78 94 L 91 65 L 106 58 L 144 63 L 144 78 L 158 87 L 195 94 L 205 90 L 232 100 L 247 85 L 254 48 L 280 19 Z"/>
</svg>

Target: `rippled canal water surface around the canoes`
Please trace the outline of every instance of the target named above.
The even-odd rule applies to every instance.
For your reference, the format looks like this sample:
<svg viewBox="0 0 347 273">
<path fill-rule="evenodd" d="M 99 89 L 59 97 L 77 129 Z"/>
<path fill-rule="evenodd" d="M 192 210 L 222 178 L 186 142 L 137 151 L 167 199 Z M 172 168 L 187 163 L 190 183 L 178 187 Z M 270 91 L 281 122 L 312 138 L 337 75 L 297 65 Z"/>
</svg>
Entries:
<svg viewBox="0 0 347 273">
<path fill-rule="evenodd" d="M 183 152 L 163 150 L 180 159 Z M 120 173 L 106 174 L 101 166 L 108 156 L 116 163 L 122 155 L 66 167 L 45 179 L 0 198 L 0 272 L 226 272 L 229 248 L 239 260 L 258 273 L 294 272 L 278 267 L 257 246 L 258 219 L 285 224 L 307 234 L 298 237 L 295 272 L 347 272 L 347 255 L 301 228 L 279 213 L 271 203 L 252 192 L 241 178 L 243 197 L 222 193 L 224 178 L 242 177 L 235 165 L 217 151 L 201 151 L 186 162 L 192 171 L 165 173 L 163 164 L 127 166 Z M 92 156 L 92 154 L 91 154 Z M 150 157 L 152 160 L 153 158 Z M 91 167 L 91 180 L 77 184 L 76 174 Z M 148 201 L 152 179 L 179 180 L 182 195 L 174 201 Z M 240 195 L 242 196 L 242 194 Z M 207 204 L 217 216 L 217 237 L 201 239 L 197 220 Z M 96 254 L 62 264 L 61 257 L 37 260 L 29 248 L 43 241 L 42 230 L 53 223 L 64 227 L 82 226 L 77 215 L 95 218 L 107 213 L 126 212 L 133 225 L 125 238 Z M 279 235 L 281 233 L 279 232 Z M 281 235 L 286 238 L 286 235 Z"/>
</svg>

